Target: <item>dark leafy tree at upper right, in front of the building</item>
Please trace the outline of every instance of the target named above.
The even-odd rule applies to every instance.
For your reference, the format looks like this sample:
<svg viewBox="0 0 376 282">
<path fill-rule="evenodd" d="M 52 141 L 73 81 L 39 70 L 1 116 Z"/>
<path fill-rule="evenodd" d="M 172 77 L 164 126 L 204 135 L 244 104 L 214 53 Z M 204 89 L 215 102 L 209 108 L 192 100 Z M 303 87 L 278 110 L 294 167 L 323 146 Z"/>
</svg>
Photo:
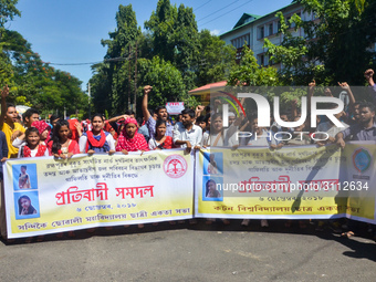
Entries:
<svg viewBox="0 0 376 282">
<path fill-rule="evenodd" d="M 375 1 L 365 0 L 299 0 L 304 11 L 315 14 L 317 21 L 291 18 L 304 38 L 293 38 L 282 13 L 280 46 L 265 39 L 265 48 L 283 69 L 281 77 L 286 84 L 307 84 L 313 77 L 322 84 L 347 81 L 364 84 L 363 73 L 372 66 L 375 53 L 368 48 L 376 40 Z M 302 60 L 302 56 L 305 59 Z"/>
</svg>

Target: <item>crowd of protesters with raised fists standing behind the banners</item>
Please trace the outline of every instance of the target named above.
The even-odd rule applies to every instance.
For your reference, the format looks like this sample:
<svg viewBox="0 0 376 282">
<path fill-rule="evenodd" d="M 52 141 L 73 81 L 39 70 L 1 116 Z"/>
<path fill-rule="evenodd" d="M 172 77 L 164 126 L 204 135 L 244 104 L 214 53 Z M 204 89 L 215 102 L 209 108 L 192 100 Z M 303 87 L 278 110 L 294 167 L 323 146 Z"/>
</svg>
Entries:
<svg viewBox="0 0 376 282">
<path fill-rule="evenodd" d="M 143 154 L 147 150 L 171 148 L 185 148 L 189 153 L 201 147 L 268 146 L 271 149 L 279 149 L 284 146 L 309 144 L 324 146 L 330 143 L 344 148 L 346 140 L 376 140 L 376 85 L 373 76 L 373 70 L 365 72 L 374 103 L 357 102 L 349 85 L 346 82 L 338 83 L 349 97 L 348 108 L 335 115 L 342 122 L 344 128 L 338 128 L 334 126 L 332 121 L 321 119 L 320 117 L 317 118 L 317 128 L 311 127 L 311 121 L 306 121 L 294 128 L 284 128 L 273 119 L 272 125 L 267 128 L 258 125 L 257 114 L 237 117 L 232 112 L 229 113 L 229 126 L 224 128 L 222 113 L 218 108 L 220 102 L 218 101 L 216 101 L 213 107 L 198 106 L 196 111 L 186 108 L 173 121 L 165 106 L 158 106 L 155 111 L 148 108 L 148 96 L 153 93 L 153 87 L 149 85 L 144 87 L 143 117 L 137 119 L 133 111 L 125 111 L 125 114 L 109 119 L 106 119 L 102 114 L 95 114 L 91 121 L 80 122 L 75 118 L 66 121 L 55 115 L 52 115 L 49 121 L 42 121 L 40 113 L 34 108 L 27 109 L 20 116 L 15 106 L 7 103 L 9 88 L 4 86 L 1 91 L 0 159 L 4 161 L 9 158 L 41 156 L 65 159 L 75 154 L 106 153 L 112 155 L 119 152 L 126 155 L 128 152 Z M 309 85 L 309 103 L 314 91 L 315 82 L 313 81 Z M 332 96 L 328 88 L 325 94 Z M 299 121 L 301 115 L 297 109 L 297 102 L 292 101 L 291 111 L 289 113 L 282 112 L 280 117 L 284 122 Z M 239 134 L 236 134 L 239 132 L 252 134 L 239 136 Z M 288 132 L 292 138 L 279 140 L 273 137 L 273 133 L 278 132 Z M 312 138 L 314 132 L 326 132 L 328 138 L 315 142 Z M 269 137 L 257 138 L 255 136 Z M 0 230 L 1 234 L 7 238 L 2 166 L 0 166 L 0 180 L 2 186 Z M 218 191 L 210 189 L 209 185 L 208 197 L 217 194 Z M 212 219 L 207 219 L 208 224 L 212 221 Z M 222 221 L 226 224 L 230 223 L 229 220 L 223 219 Z M 244 219 L 241 224 L 248 226 L 249 222 L 250 220 Z M 191 223 L 195 223 L 195 220 Z M 293 221 L 289 220 L 285 226 L 291 227 L 292 223 Z M 303 220 L 299 221 L 301 228 L 305 228 L 306 223 Z M 325 224 L 334 227 L 336 230 L 340 228 L 336 221 L 318 221 L 315 223 L 317 230 Z M 267 220 L 261 220 L 262 227 L 268 227 L 268 224 Z M 139 227 L 143 227 L 143 224 L 139 224 Z M 353 236 L 354 231 L 357 231 L 356 228 L 358 228 L 357 223 L 348 221 L 347 227 L 343 227 L 343 236 Z M 74 236 L 73 232 L 71 234 Z"/>
</svg>

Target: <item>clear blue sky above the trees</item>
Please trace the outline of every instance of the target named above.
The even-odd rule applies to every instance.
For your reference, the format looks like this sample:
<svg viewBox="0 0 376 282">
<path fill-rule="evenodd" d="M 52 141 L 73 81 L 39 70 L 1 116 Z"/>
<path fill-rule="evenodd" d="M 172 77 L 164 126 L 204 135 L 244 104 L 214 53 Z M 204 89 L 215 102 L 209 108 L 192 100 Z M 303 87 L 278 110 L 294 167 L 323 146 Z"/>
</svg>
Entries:
<svg viewBox="0 0 376 282">
<path fill-rule="evenodd" d="M 192 7 L 198 29 L 219 35 L 233 28 L 241 15 L 263 15 L 292 0 L 170 0 L 173 4 Z M 32 44 L 32 50 L 55 69 L 79 77 L 86 91 L 92 77 L 91 63 L 101 62 L 106 53 L 101 40 L 116 28 L 118 6 L 132 4 L 137 23 L 144 22 L 157 8 L 158 0 L 19 0 L 21 17 L 8 22 Z M 84 64 L 83 64 L 84 63 Z M 82 64 L 82 65 L 70 65 Z"/>
</svg>

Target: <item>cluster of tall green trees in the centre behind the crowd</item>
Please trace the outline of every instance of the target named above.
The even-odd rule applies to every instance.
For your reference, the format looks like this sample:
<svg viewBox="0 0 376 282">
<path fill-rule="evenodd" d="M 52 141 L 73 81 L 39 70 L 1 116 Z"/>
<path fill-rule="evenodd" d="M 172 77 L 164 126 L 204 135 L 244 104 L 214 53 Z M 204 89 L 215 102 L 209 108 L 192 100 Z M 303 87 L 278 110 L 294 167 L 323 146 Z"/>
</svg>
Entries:
<svg viewBox="0 0 376 282">
<path fill-rule="evenodd" d="M 233 48 L 209 31 L 199 32 L 192 8 L 159 0 L 140 33 L 132 6 L 119 6 L 117 28 L 102 40 L 105 62 L 94 65 L 93 101 L 100 112 L 121 114 L 137 104 L 145 84 L 153 85 L 150 106 L 184 101 L 195 106 L 188 91 L 222 81 L 234 63 Z M 136 62 L 137 58 L 137 62 Z"/>
</svg>

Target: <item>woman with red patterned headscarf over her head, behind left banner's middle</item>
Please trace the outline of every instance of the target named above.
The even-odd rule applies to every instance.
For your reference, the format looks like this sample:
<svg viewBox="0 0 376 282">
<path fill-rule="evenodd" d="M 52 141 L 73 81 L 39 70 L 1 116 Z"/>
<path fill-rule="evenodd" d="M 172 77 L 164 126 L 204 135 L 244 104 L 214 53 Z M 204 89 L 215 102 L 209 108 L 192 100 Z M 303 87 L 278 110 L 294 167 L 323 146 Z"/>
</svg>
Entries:
<svg viewBox="0 0 376 282">
<path fill-rule="evenodd" d="M 127 155 L 128 152 L 145 152 L 149 150 L 149 147 L 145 140 L 144 135 L 138 133 L 137 121 L 132 117 L 127 117 L 124 122 L 125 127 L 117 139 L 116 152 L 122 152 Z"/>
</svg>

